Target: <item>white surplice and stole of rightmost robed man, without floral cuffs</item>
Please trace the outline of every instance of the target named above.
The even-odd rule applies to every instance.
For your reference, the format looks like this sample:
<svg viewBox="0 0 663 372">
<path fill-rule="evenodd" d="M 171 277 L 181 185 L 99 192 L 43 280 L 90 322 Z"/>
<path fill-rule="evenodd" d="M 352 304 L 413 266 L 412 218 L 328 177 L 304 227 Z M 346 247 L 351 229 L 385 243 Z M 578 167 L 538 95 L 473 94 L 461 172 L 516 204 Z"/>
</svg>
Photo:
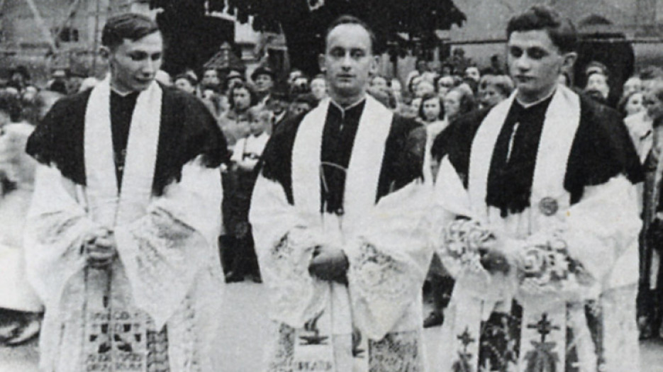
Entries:
<svg viewBox="0 0 663 372">
<path fill-rule="evenodd" d="M 444 326 L 449 330 L 447 335 L 453 337 L 447 340 L 452 347 L 440 347 L 445 354 L 440 360 L 448 362 L 440 366 L 440 371 L 450 371 L 452 362 L 467 361 L 472 368 L 479 367 L 479 342 L 483 342 L 479 339 L 482 336 L 479 326 L 488 320 L 491 312 L 498 310 L 496 305 L 506 305 L 508 312 L 514 296 L 523 306 L 520 359 L 513 360 L 519 363 L 519 370 L 530 371 L 525 367 L 526 359 L 540 351 L 537 347 L 545 345 L 550 346 L 550 354 L 555 354 L 559 362 L 556 371 L 564 371 L 564 359 L 570 351 L 577 354 L 574 368 L 579 371 L 595 371 L 597 363 L 605 371 L 635 371 L 639 356 L 637 348 L 632 347 L 637 346 L 633 338 L 633 284 L 637 282 L 640 226 L 635 187 L 625 176 L 615 176 L 605 184 L 586 186 L 583 198 L 570 205 L 570 195 L 563 181 L 579 123 L 579 101 L 575 94 L 559 87 L 542 130 L 530 198 L 532 206 L 522 213 L 502 218 L 499 210 L 485 203 L 486 182 L 494 142 L 512 101 L 513 96 L 496 106 L 474 138 L 469 190 L 462 186 L 449 159 L 442 159 L 435 185 L 438 205 L 447 219 L 462 215 L 489 227 L 503 239 L 503 249 L 508 255 L 517 255 L 518 249 L 540 242 L 561 239 L 568 247 L 569 257 L 578 261 L 593 281 L 586 286 L 569 286 L 564 291 L 533 293 L 531 287 L 517 283 L 515 276 L 504 280 L 494 274 L 487 282 L 479 282 L 478 277 L 472 275 L 457 275 L 452 298 L 456 312 L 447 317 Z M 552 213 L 543 208 L 544 202 L 550 200 L 555 201 Z M 440 247 L 444 249 L 442 244 Z M 625 298 L 630 300 L 615 306 L 615 299 Z M 596 345 L 587 329 L 586 300 L 594 300 L 603 309 L 599 320 L 603 324 L 602 334 L 598 334 Z M 543 329 L 543 326 L 549 328 Z M 567 339 L 567 329 L 572 332 L 572 339 Z M 467 337 L 461 337 L 464 334 Z M 547 343 L 542 342 L 541 337 Z M 623 349 L 631 352 L 627 355 Z"/>
</svg>

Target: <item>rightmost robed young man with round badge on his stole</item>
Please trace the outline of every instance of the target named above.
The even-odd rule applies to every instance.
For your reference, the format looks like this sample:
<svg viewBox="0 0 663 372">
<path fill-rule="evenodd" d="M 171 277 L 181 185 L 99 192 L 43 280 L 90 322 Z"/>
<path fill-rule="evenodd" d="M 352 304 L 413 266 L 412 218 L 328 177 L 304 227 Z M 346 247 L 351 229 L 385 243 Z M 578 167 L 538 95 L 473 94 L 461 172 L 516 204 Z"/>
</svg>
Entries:
<svg viewBox="0 0 663 372">
<path fill-rule="evenodd" d="M 572 23 L 533 6 L 507 35 L 516 91 L 445 134 L 439 370 L 639 371 L 635 149 L 618 113 L 557 85 Z"/>
</svg>

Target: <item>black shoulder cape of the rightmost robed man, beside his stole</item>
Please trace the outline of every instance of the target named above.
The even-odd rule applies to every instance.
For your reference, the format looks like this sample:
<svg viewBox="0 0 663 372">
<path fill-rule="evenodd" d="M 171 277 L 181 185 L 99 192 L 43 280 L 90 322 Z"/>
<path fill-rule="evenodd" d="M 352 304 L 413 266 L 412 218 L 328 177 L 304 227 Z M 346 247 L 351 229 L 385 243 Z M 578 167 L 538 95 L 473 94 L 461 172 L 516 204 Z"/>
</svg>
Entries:
<svg viewBox="0 0 663 372">
<path fill-rule="evenodd" d="M 459 117 L 435 138 L 431 150 L 438 159 L 449 156 L 465 188 L 472 141 L 488 113 L 480 110 Z M 617 111 L 580 95 L 580 125 L 564 176 L 564 189 L 571 193 L 571 203 L 582 198 L 585 186 L 604 184 L 619 174 L 634 184 L 644 180 L 628 129 Z"/>
</svg>

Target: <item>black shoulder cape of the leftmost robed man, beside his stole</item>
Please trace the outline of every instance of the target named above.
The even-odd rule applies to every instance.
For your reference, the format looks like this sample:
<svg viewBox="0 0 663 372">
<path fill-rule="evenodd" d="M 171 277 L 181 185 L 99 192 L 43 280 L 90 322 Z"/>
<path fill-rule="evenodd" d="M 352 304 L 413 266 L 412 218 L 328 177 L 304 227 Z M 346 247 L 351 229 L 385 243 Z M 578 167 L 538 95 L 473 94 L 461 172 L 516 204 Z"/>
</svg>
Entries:
<svg viewBox="0 0 663 372">
<path fill-rule="evenodd" d="M 195 96 L 177 89 L 163 89 L 157 163 L 152 192 L 163 189 L 182 176 L 182 166 L 202 155 L 206 167 L 227 162 L 225 137 L 216 120 Z M 60 169 L 62 176 L 85 185 L 85 110 L 91 91 L 57 101 L 28 140 L 26 152 L 42 164 Z"/>
</svg>

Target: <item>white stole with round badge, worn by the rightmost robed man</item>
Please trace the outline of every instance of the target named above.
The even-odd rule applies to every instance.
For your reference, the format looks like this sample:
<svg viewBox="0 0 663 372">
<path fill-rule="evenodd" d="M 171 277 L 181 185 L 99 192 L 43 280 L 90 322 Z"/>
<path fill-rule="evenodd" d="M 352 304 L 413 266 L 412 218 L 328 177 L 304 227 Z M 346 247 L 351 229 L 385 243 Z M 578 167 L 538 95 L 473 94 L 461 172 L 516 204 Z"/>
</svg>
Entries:
<svg viewBox="0 0 663 372">
<path fill-rule="evenodd" d="M 498 103 L 481 123 L 474 137 L 469 162 L 469 197 L 473 218 L 503 237 L 523 239 L 542 230 L 553 231 L 564 226 L 571 203 L 571 196 L 564 189 L 564 177 L 574 137 L 580 124 L 580 99 L 565 86 L 557 86 L 545 114 L 537 150 L 530 208 L 517 215 L 501 218 L 498 208 L 486 205 L 488 175 L 498 135 L 515 97 L 516 92 L 507 100 Z M 550 208 L 551 206 L 554 208 Z M 469 320 L 467 325 L 472 325 L 470 328 L 474 328 L 474 332 L 479 331 L 478 327 L 473 327 L 473 323 L 477 323 L 477 326 L 480 323 L 480 312 L 486 313 L 491 310 L 484 308 L 485 305 L 487 304 L 477 303 L 470 307 L 474 309 L 474 315 L 468 314 L 463 309 L 464 314 L 459 317 Z M 566 347 L 566 303 L 559 300 L 551 302 L 545 298 L 525 299 L 523 309 L 520 370 L 523 370 L 527 364 L 525 358 L 532 355 L 530 351 L 533 351 L 533 345 L 542 341 L 540 332 L 550 332 L 545 335 L 546 343 L 555 343 L 552 352 L 555 352 L 559 358 L 558 370 L 563 370 Z M 478 346 L 478 342 L 472 345 L 474 347 L 472 359 L 475 366 L 479 354 Z M 462 350 L 462 347 L 457 345 L 459 350 Z"/>
</svg>

